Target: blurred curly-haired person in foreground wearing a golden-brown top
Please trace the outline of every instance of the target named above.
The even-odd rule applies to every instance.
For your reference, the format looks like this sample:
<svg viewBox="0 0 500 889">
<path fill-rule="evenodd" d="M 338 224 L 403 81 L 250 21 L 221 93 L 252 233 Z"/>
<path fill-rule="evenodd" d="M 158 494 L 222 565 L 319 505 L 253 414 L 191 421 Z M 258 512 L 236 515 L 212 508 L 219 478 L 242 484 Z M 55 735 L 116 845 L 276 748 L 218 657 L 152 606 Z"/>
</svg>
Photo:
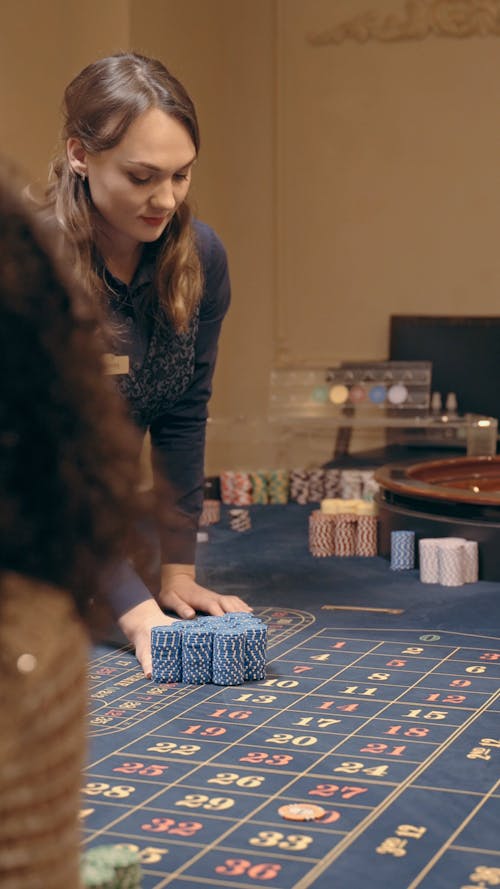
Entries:
<svg viewBox="0 0 500 889">
<path fill-rule="evenodd" d="M 0 885 L 76 889 L 88 628 L 136 525 L 138 441 L 11 182 L 0 171 Z"/>
</svg>

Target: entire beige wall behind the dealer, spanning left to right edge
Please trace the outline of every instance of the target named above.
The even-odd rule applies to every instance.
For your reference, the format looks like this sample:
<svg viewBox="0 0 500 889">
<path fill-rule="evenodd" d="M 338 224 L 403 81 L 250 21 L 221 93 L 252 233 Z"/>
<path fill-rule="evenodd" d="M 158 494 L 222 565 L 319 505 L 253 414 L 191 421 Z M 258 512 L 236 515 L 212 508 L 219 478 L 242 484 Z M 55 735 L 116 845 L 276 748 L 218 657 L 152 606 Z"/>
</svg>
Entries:
<svg viewBox="0 0 500 889">
<path fill-rule="evenodd" d="M 438 21 L 445 4 L 419 6 L 431 7 Z M 285 459 L 262 445 L 274 364 L 383 358 L 395 312 L 497 313 L 500 38 L 309 40 L 370 10 L 404 22 L 406 9 L 0 0 L 2 150 L 32 176 L 45 175 L 65 83 L 99 55 L 156 55 L 195 99 L 194 197 L 233 282 L 212 401 L 227 422 L 212 428 L 209 469 Z"/>
</svg>

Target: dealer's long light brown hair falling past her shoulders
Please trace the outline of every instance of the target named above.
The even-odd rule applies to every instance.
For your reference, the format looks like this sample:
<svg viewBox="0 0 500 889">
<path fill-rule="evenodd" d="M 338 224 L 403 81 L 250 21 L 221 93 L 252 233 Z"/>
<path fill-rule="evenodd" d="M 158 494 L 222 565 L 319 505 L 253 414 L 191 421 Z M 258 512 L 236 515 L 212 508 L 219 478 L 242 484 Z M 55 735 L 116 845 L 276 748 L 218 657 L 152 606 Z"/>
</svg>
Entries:
<svg viewBox="0 0 500 889">
<path fill-rule="evenodd" d="M 185 127 L 196 149 L 200 136 L 196 111 L 182 84 L 156 59 L 117 53 L 88 65 L 64 93 L 61 145 L 52 163 L 47 191 L 49 206 L 74 248 L 80 275 L 90 293 L 103 294 L 92 221 L 92 199 L 68 162 L 66 142 L 77 138 L 90 154 L 113 148 L 137 117 L 160 108 Z M 202 272 L 184 201 L 162 239 L 157 263 L 161 321 L 166 315 L 177 330 L 185 329 L 202 292 Z"/>
</svg>

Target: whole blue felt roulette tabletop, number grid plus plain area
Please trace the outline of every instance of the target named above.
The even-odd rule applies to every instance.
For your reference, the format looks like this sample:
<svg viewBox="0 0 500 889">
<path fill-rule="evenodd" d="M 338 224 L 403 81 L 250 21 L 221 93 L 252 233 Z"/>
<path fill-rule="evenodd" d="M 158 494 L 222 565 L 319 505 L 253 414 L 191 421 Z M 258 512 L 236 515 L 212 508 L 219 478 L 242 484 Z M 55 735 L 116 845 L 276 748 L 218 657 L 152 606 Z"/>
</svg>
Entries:
<svg viewBox="0 0 500 889">
<path fill-rule="evenodd" d="M 313 558 L 308 506 L 226 512 L 198 576 L 267 622 L 266 678 L 154 684 L 96 646 L 85 846 L 132 848 L 143 889 L 499 886 L 500 585 Z"/>
</svg>

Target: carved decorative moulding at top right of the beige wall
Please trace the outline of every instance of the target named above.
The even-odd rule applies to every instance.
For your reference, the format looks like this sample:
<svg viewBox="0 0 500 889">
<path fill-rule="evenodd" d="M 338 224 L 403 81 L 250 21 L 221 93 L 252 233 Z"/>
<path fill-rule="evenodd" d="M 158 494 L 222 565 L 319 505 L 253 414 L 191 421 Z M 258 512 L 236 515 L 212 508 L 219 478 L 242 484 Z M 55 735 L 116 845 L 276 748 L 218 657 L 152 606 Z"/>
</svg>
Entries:
<svg viewBox="0 0 500 889">
<path fill-rule="evenodd" d="M 401 13 L 373 10 L 308 36 L 312 46 L 426 37 L 499 37 L 500 0 L 407 0 Z"/>
</svg>

